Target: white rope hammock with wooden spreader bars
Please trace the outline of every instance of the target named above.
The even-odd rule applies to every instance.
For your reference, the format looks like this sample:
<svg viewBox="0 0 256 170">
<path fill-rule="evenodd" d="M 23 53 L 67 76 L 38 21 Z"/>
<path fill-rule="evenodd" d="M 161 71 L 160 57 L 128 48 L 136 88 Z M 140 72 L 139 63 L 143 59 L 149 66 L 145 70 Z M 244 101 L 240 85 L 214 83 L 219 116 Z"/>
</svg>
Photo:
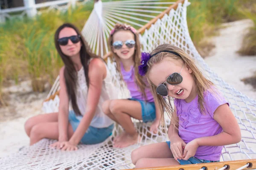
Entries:
<svg viewBox="0 0 256 170">
<path fill-rule="evenodd" d="M 140 4 L 143 4 L 140 5 Z M 239 123 L 242 133 L 241 142 L 224 146 L 221 154 L 221 162 L 208 164 L 183 165 L 169 167 L 169 170 L 207 170 L 210 169 L 254 169 L 256 168 L 256 101 L 248 98 L 230 87 L 218 75 L 216 75 L 204 62 L 195 49 L 189 36 L 186 23 L 186 7 L 188 0 L 179 0 L 172 6 L 168 0 L 126 0 L 102 3 L 100 0 L 94 4 L 82 34 L 90 44 L 92 50 L 101 57 L 108 57 L 106 38 L 115 23 L 128 23 L 141 27 L 140 41 L 142 51 L 151 51 L 158 40 L 172 42 L 182 48 L 197 61 L 204 74 L 217 85 L 219 90 L 230 103 L 230 108 Z M 154 5 L 154 6 L 152 6 Z M 160 10 L 165 9 L 161 12 Z M 157 17 L 155 17 L 155 14 Z M 141 18 L 153 18 L 150 22 Z M 143 23 L 145 25 L 143 26 Z M 119 99 L 127 98 L 127 89 L 121 88 L 122 83 L 118 81 L 115 63 L 106 58 L 108 67 L 119 90 Z M 59 82 L 56 79 L 47 100 L 43 103 L 46 113 L 58 111 Z M 170 120 L 166 116 L 166 125 Z M 142 136 L 140 144 L 134 144 L 126 148 L 113 148 L 112 137 L 122 131 L 122 127 L 116 125 L 113 136 L 105 142 L 94 145 L 79 145 L 76 151 L 60 151 L 49 148 L 54 140 L 42 139 L 38 143 L 25 147 L 19 152 L 0 159 L 0 170 L 45 170 L 45 169 L 68 169 L 68 170 L 97 170 L 97 169 L 129 169 L 134 168 L 131 163 L 131 151 L 141 145 L 165 142 L 168 140 L 167 127 L 160 127 L 157 135 L 149 132 L 150 123 L 143 123 L 134 119 L 134 125 Z M 153 168 L 152 168 L 153 169 Z M 157 168 L 156 168 L 157 169 Z M 159 168 L 160 169 L 160 168 Z M 165 168 L 162 168 L 165 169 Z M 167 169 L 167 168 L 166 168 Z"/>
</svg>

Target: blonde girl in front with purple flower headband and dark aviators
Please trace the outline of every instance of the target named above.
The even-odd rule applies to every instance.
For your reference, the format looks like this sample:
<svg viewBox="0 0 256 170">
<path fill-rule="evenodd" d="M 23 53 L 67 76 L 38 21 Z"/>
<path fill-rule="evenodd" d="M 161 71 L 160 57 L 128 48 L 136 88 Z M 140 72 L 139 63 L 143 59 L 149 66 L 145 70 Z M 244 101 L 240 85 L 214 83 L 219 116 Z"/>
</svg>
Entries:
<svg viewBox="0 0 256 170">
<path fill-rule="evenodd" d="M 165 110 L 172 118 L 170 141 L 132 152 L 136 167 L 215 162 L 220 160 L 223 145 L 241 141 L 229 104 L 180 48 L 159 45 L 151 54 L 143 53 L 142 59 L 140 73 L 150 82 L 161 113 Z"/>
</svg>

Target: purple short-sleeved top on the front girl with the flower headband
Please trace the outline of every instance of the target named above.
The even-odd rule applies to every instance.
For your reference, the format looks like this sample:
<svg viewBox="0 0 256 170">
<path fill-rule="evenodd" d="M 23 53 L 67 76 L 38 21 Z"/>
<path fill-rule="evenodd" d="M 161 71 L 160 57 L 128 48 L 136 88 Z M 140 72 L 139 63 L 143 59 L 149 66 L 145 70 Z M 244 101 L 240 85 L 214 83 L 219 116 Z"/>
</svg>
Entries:
<svg viewBox="0 0 256 170">
<path fill-rule="evenodd" d="M 179 117 L 179 136 L 185 143 L 193 139 L 214 136 L 222 132 L 221 125 L 213 119 L 213 113 L 218 106 L 227 103 L 225 98 L 219 94 L 215 98 L 210 92 L 204 93 L 206 113 L 202 114 L 198 109 L 198 96 L 187 103 L 183 99 L 175 99 L 174 104 L 177 108 Z M 229 105 L 229 103 L 227 103 Z M 219 161 L 223 146 L 199 146 L 195 153 L 198 159 L 209 161 Z"/>
</svg>

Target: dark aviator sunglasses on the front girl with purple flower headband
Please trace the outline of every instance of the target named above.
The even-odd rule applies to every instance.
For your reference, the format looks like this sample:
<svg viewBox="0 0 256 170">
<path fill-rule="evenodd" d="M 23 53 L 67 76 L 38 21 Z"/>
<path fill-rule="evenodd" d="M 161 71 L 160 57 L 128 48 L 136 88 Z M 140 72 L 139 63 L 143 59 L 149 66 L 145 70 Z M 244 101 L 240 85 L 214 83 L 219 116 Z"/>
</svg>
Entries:
<svg viewBox="0 0 256 170">
<path fill-rule="evenodd" d="M 184 66 L 184 64 L 183 64 Z M 183 69 L 183 66 L 181 68 L 181 71 Z M 180 73 L 181 73 L 180 71 Z M 180 75 L 180 73 L 173 73 L 169 75 L 169 77 L 166 78 L 164 82 L 162 82 L 160 85 L 157 86 L 157 94 L 160 94 L 161 96 L 167 96 L 168 95 L 168 89 L 166 83 L 169 85 L 178 85 L 182 82 L 183 77 Z"/>
</svg>

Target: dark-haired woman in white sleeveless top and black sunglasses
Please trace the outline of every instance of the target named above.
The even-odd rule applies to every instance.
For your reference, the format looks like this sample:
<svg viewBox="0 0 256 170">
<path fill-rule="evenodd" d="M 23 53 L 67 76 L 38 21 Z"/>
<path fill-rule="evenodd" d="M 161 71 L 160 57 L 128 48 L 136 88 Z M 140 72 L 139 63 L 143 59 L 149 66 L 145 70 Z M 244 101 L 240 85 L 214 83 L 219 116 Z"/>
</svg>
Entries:
<svg viewBox="0 0 256 170">
<path fill-rule="evenodd" d="M 103 142 L 112 133 L 113 121 L 101 106 L 105 100 L 117 97 L 105 62 L 90 51 L 79 30 L 69 23 L 55 32 L 55 47 L 64 62 L 60 70 L 59 112 L 26 121 L 30 145 L 49 138 L 58 140 L 52 147 L 76 150 L 79 142 Z"/>
</svg>

